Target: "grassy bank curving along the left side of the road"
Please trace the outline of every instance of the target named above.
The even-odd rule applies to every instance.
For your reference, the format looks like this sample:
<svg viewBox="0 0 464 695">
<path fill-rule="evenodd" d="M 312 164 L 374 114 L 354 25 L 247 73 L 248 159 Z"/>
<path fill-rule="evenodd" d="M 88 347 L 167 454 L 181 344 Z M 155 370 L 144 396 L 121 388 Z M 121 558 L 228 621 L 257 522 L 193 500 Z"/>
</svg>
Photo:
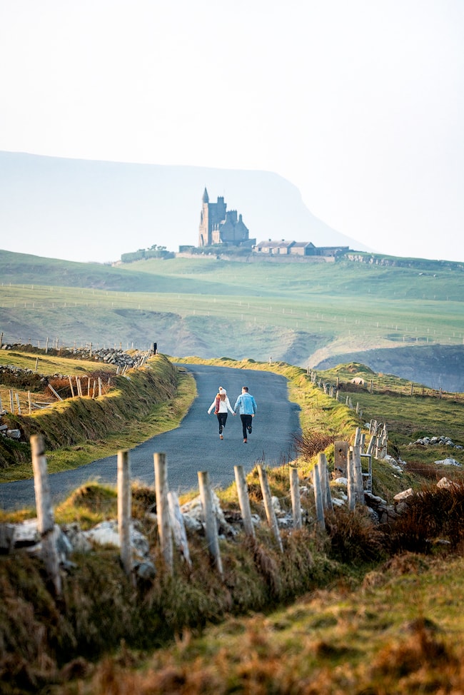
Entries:
<svg viewBox="0 0 464 695">
<path fill-rule="evenodd" d="M 73 365 L 64 367 L 69 373 Z M 140 370 L 111 376 L 111 389 L 104 396 L 69 398 L 32 415 L 9 413 L 4 421 L 21 430 L 28 442 L 31 435 L 43 435 L 49 472 L 58 472 L 177 427 L 195 395 L 193 377 L 156 355 Z M 29 444 L 0 440 L 0 446 L 0 481 L 31 477 Z"/>
</svg>

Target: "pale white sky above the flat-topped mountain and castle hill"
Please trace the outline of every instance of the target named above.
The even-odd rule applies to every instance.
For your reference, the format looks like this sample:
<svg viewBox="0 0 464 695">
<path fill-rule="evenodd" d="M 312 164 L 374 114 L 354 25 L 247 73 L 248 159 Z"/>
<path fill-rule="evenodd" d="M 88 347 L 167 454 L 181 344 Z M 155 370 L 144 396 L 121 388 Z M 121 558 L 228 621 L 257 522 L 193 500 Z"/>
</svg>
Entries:
<svg viewBox="0 0 464 695">
<path fill-rule="evenodd" d="M 379 253 L 464 261 L 463 124 L 463 0 L 0 0 L 1 151 L 271 171 Z"/>
</svg>

